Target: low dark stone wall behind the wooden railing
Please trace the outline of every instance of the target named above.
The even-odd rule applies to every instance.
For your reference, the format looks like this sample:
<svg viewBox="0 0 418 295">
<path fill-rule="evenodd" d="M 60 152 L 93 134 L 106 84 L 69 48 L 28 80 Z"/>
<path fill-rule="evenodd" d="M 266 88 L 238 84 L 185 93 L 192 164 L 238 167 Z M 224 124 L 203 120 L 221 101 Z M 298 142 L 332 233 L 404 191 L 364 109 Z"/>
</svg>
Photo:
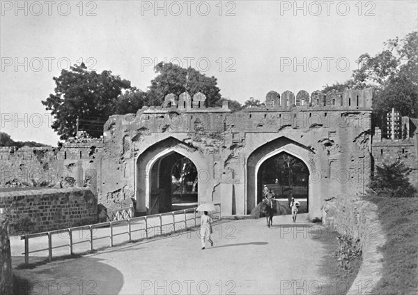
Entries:
<svg viewBox="0 0 418 295">
<path fill-rule="evenodd" d="M 0 208 L 10 234 L 44 232 L 98 221 L 97 199 L 88 188 L 2 192 Z"/>
</svg>

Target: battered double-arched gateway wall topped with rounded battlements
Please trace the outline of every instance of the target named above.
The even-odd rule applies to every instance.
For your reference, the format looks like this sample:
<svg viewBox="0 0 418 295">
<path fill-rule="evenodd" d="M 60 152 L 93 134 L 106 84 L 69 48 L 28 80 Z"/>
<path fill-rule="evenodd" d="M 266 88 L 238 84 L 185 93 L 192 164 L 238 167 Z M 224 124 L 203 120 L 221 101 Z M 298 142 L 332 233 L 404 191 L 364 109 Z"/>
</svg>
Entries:
<svg viewBox="0 0 418 295">
<path fill-rule="evenodd" d="M 371 96 L 371 89 L 326 96 L 315 91 L 311 98 L 306 91 L 270 91 L 266 107 L 231 113 L 227 102 L 206 108 L 201 93 L 183 93 L 167 96 L 164 107 L 111 116 L 104 126 L 99 202 L 121 206 L 133 198 L 137 211 L 146 211 L 149 169 L 175 151 L 198 169 L 199 202 L 222 202 L 223 213 L 247 214 L 256 190 L 249 174 L 256 174 L 266 155 L 295 151 L 311 172 L 309 214 L 320 218 L 324 199 L 365 190 Z"/>
</svg>

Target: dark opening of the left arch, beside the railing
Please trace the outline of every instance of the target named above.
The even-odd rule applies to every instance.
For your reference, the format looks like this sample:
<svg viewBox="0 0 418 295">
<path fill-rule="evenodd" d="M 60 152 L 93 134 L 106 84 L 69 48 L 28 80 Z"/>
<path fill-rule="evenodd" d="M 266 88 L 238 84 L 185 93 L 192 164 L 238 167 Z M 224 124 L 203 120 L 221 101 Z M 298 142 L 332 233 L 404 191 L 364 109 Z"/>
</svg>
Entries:
<svg viewBox="0 0 418 295">
<path fill-rule="evenodd" d="M 150 172 L 150 214 L 197 205 L 197 169 L 192 160 L 172 152 L 155 162 Z"/>
</svg>

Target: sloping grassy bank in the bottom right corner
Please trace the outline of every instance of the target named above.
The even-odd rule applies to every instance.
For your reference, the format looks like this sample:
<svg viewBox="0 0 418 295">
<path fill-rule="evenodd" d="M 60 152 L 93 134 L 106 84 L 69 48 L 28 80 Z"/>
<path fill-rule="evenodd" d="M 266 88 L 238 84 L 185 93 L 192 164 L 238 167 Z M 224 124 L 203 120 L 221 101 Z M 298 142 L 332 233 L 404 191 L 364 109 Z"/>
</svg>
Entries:
<svg viewBox="0 0 418 295">
<path fill-rule="evenodd" d="M 418 294 L 418 198 L 372 197 L 387 242 L 382 278 L 371 294 Z"/>
</svg>

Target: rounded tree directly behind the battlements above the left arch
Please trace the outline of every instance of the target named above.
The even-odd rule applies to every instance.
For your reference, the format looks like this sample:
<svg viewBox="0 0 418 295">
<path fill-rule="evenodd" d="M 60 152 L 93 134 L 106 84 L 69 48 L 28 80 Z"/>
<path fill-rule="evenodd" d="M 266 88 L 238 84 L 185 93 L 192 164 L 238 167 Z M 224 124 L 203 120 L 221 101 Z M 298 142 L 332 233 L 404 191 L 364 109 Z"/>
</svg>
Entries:
<svg viewBox="0 0 418 295">
<path fill-rule="evenodd" d="M 148 91 L 148 105 L 161 105 L 165 96 L 173 93 L 180 96 L 188 92 L 190 96 L 201 92 L 206 95 L 206 106 L 213 107 L 221 99 L 215 77 L 207 77 L 194 68 L 181 68 L 173 63 L 160 62 L 155 66 L 157 77 L 151 81 Z"/>
</svg>

